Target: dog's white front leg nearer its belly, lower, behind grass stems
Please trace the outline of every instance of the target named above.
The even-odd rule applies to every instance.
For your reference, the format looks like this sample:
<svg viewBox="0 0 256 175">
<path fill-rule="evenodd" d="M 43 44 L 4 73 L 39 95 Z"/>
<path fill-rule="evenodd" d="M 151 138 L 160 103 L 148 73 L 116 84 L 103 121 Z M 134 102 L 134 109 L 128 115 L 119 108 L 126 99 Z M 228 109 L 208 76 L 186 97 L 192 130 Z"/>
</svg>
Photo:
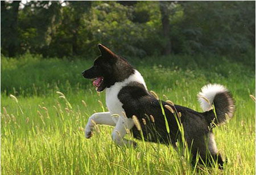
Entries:
<svg viewBox="0 0 256 175">
<path fill-rule="evenodd" d="M 123 138 L 123 136 L 125 136 L 125 134 L 127 133 L 127 130 L 130 130 L 133 126 L 133 119 L 119 117 L 117 125 L 115 125 L 114 131 L 112 133 L 113 141 L 119 146 L 136 147 L 135 142 Z"/>
</svg>

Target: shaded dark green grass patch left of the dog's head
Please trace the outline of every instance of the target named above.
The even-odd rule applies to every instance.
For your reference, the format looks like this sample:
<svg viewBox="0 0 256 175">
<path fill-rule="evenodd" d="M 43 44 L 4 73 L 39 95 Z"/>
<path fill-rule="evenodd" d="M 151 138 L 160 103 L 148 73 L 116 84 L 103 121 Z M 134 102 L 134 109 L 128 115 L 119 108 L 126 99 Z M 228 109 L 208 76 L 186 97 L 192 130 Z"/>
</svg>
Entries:
<svg viewBox="0 0 256 175">
<path fill-rule="evenodd" d="M 93 61 L 93 60 L 92 60 Z M 42 56 L 25 54 L 16 58 L 1 58 L 1 88 L 14 95 L 43 95 L 54 93 L 59 86 L 65 90 L 81 86 L 81 72 L 92 65 L 82 59 L 69 61 L 67 58 L 44 59 Z M 39 91 L 39 92 L 38 92 Z"/>
</svg>

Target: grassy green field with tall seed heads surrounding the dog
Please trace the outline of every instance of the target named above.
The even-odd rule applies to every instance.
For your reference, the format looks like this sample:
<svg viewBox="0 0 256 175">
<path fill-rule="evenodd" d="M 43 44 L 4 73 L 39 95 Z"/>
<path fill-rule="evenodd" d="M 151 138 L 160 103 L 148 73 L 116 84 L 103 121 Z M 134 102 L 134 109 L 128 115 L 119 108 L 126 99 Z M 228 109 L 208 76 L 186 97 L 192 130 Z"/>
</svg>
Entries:
<svg viewBox="0 0 256 175">
<path fill-rule="evenodd" d="M 129 59 L 148 89 L 201 112 L 196 95 L 207 83 L 226 86 L 236 100 L 234 118 L 214 129 L 224 170 L 193 168 L 172 147 L 135 140 L 116 146 L 112 127 L 85 139 L 90 115 L 106 109 L 81 72 L 92 58 L 1 58 L 1 174 L 255 174 L 255 56 L 234 62 L 220 56 Z M 61 98 L 60 93 L 64 93 Z M 127 135 L 127 138 L 130 136 Z M 131 139 L 131 138 L 129 138 Z"/>
</svg>

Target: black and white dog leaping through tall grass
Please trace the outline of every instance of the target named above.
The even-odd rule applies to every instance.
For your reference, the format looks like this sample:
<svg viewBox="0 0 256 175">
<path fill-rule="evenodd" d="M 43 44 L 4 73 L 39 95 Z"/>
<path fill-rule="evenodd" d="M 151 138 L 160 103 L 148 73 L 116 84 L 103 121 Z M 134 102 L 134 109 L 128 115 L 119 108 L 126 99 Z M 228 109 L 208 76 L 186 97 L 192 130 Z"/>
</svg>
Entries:
<svg viewBox="0 0 256 175">
<path fill-rule="evenodd" d="M 204 112 L 196 112 L 156 99 L 147 91 L 146 83 L 138 70 L 104 45 L 98 44 L 98 48 L 101 56 L 95 59 L 93 66 L 83 71 L 82 75 L 93 80 L 98 92 L 106 89 L 106 105 L 109 112 L 94 113 L 89 118 L 85 127 L 86 138 L 92 136 L 96 123 L 114 126 L 112 139 L 119 146 L 134 146 L 134 142 L 124 139 L 123 136 L 127 131 L 131 131 L 135 138 L 141 139 L 142 131 L 144 139 L 149 142 L 172 144 L 176 147 L 175 143 L 181 139 L 178 126 L 180 122 L 192 154 L 199 153 L 204 161 L 213 158 L 222 166 L 224 162 L 217 152 L 212 128 L 233 117 L 234 100 L 224 86 L 208 84 L 201 88 L 199 102 Z M 163 116 L 162 109 L 166 117 Z M 113 114 L 118 114 L 119 117 L 114 118 Z M 134 126 L 133 116 L 137 116 L 141 123 L 141 131 Z"/>
</svg>

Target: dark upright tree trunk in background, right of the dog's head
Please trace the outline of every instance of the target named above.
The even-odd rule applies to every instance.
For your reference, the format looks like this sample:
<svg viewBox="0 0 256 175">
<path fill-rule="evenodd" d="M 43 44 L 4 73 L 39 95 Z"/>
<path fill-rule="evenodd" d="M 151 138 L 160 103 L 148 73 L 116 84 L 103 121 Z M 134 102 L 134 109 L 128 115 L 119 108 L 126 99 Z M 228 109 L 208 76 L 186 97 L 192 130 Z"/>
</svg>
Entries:
<svg viewBox="0 0 256 175">
<path fill-rule="evenodd" d="M 170 20 L 168 11 L 168 3 L 167 1 L 159 1 L 160 12 L 161 12 L 161 20 L 162 20 L 162 31 L 163 31 L 163 38 L 166 40 L 166 45 L 164 46 L 164 54 L 168 55 L 171 54 L 171 39 L 170 39 Z"/>
</svg>

